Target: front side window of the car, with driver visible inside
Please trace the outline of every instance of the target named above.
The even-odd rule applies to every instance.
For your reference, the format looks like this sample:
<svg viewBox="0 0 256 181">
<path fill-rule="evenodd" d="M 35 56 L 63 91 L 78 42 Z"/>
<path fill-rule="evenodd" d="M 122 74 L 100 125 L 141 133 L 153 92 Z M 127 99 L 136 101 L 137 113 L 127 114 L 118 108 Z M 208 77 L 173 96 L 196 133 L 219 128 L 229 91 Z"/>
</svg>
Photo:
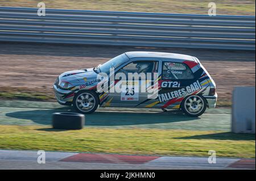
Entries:
<svg viewBox="0 0 256 181">
<path fill-rule="evenodd" d="M 158 62 L 156 61 L 134 61 L 124 66 L 118 72 L 123 73 L 154 73 L 158 71 Z"/>
</svg>

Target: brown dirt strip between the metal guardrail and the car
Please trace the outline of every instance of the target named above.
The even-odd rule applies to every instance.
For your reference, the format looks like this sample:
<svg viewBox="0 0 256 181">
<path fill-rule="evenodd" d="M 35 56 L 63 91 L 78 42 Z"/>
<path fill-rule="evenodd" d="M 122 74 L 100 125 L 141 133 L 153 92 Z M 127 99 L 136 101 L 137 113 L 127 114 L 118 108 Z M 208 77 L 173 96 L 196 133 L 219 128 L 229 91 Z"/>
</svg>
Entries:
<svg viewBox="0 0 256 181">
<path fill-rule="evenodd" d="M 51 51 L 49 51 L 47 45 L 42 45 L 39 49 L 33 48 L 32 45 L 27 45 L 27 47 L 26 45 L 19 46 L 13 45 L 12 47 L 9 44 L 7 48 L 0 50 L 0 91 L 2 93 L 12 92 L 14 94 L 17 92 L 26 92 L 27 94 L 42 93 L 46 95 L 47 100 L 54 100 L 52 85 L 57 76 L 64 71 L 91 68 L 127 50 L 138 50 L 136 48 L 118 49 L 117 47 L 89 46 L 71 46 L 69 48 L 63 46 L 61 48 L 60 45 L 50 45 Z M 83 49 L 84 51 L 82 51 Z M 234 86 L 255 86 L 254 52 L 247 53 L 246 56 L 246 54 L 237 52 L 227 52 L 225 54 L 224 52 L 212 51 L 208 53 L 209 50 L 150 50 L 185 54 L 190 54 L 186 52 L 193 52 L 193 54 L 199 54 L 198 57 L 201 59 L 201 63 L 216 82 L 219 106 L 231 104 Z M 81 56 L 78 56 L 79 54 Z M 213 54 L 216 54 L 216 56 L 213 56 Z M 221 61 L 222 57 L 225 61 Z M 233 57 L 236 57 L 236 59 Z M 254 58 L 253 61 L 251 61 L 252 58 Z M 39 94 L 39 98 L 42 98 L 42 94 Z M 0 98 L 6 97 L 0 95 Z M 7 96 L 7 98 L 11 97 Z M 22 96 L 18 98 L 13 96 L 13 98 L 22 99 Z M 28 96 L 27 99 L 32 98 Z"/>
</svg>

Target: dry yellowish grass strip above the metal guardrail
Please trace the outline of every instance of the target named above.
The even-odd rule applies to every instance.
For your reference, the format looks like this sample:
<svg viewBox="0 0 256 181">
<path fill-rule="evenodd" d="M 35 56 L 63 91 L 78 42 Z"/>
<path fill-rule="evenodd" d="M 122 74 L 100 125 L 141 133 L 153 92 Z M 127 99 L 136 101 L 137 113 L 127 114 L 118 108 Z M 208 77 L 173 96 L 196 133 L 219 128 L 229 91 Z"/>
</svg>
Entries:
<svg viewBox="0 0 256 181">
<path fill-rule="evenodd" d="M 37 7 L 38 0 L 1 0 L 0 6 Z M 47 8 L 207 14 L 210 1 L 201 0 L 44 0 Z M 217 14 L 254 15 L 255 1 L 216 0 Z"/>
</svg>

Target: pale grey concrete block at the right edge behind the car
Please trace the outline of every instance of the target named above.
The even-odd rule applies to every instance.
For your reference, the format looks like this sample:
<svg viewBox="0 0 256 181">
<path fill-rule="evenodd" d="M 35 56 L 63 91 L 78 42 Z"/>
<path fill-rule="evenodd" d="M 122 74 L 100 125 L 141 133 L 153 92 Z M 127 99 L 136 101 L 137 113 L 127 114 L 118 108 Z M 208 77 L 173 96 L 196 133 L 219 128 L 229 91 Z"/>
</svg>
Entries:
<svg viewBox="0 0 256 181">
<path fill-rule="evenodd" d="M 234 87 L 232 132 L 255 133 L 255 87 Z"/>
</svg>

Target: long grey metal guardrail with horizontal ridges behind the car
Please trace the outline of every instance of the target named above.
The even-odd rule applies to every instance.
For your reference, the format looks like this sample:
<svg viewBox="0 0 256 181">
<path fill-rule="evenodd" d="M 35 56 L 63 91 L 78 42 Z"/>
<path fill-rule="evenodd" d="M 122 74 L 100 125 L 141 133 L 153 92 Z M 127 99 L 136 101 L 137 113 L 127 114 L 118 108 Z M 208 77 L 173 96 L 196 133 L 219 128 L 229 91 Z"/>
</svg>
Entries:
<svg viewBox="0 0 256 181">
<path fill-rule="evenodd" d="M 255 16 L 0 7 L 0 41 L 255 50 Z"/>
</svg>

